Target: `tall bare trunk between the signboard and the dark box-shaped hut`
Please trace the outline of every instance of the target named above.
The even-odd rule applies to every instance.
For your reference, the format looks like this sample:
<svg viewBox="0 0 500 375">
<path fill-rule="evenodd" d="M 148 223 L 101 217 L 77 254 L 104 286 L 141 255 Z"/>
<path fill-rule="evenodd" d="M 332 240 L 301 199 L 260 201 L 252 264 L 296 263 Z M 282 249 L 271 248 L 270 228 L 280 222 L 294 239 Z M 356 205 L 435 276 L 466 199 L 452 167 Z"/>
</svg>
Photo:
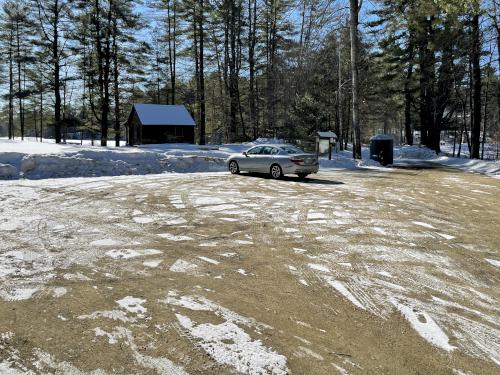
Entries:
<svg viewBox="0 0 500 375">
<path fill-rule="evenodd" d="M 351 12 L 351 70 L 352 70 L 352 130 L 354 159 L 361 159 L 361 126 L 359 123 L 359 77 L 358 77 L 358 0 L 349 0 Z"/>
</svg>

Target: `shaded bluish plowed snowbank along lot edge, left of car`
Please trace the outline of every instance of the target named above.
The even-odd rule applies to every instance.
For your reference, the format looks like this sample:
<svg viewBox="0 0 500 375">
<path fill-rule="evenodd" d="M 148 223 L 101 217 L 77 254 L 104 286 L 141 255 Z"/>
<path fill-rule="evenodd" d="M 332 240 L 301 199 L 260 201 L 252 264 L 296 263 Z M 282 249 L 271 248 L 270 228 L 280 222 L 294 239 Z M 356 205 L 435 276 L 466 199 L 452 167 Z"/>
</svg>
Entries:
<svg viewBox="0 0 500 375">
<path fill-rule="evenodd" d="M 15 154 L 0 164 L 0 179 L 45 179 L 145 175 L 164 172 L 224 171 L 225 159 L 211 156 L 170 156 L 156 152 L 116 153 L 82 150 L 66 154 Z"/>
</svg>

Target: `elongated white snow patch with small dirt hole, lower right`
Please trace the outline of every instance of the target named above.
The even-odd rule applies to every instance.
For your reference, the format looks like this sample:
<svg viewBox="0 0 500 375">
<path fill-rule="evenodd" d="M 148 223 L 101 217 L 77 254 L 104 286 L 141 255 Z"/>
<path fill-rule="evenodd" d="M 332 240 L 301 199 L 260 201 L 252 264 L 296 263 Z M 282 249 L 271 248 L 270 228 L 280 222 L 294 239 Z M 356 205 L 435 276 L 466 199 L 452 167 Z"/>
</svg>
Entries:
<svg viewBox="0 0 500 375">
<path fill-rule="evenodd" d="M 403 314 L 410 325 L 417 333 L 422 336 L 427 342 L 447 352 L 456 349 L 449 344 L 449 338 L 446 333 L 436 324 L 429 314 L 425 311 L 418 311 L 415 308 L 403 305 L 396 300 L 391 303 Z"/>
</svg>

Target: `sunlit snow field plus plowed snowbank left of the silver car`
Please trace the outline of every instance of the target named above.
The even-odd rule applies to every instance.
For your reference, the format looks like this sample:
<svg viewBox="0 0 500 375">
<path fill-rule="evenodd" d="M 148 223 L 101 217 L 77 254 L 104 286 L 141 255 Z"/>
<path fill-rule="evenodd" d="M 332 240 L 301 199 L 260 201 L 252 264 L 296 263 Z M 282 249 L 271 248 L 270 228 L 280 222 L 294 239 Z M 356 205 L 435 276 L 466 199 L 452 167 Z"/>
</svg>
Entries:
<svg viewBox="0 0 500 375">
<path fill-rule="evenodd" d="M 194 145 L 160 146 L 163 147 L 102 148 L 0 140 L 0 179 L 220 172 L 226 169 L 228 152 Z"/>
</svg>

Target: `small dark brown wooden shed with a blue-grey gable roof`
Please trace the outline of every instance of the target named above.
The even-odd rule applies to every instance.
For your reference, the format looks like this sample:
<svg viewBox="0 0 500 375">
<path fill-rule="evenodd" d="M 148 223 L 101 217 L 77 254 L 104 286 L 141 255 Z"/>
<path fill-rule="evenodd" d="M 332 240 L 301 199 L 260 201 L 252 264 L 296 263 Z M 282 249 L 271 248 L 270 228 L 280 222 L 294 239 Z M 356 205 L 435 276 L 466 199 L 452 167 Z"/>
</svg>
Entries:
<svg viewBox="0 0 500 375">
<path fill-rule="evenodd" d="M 194 143 L 193 117 L 183 105 L 134 104 L 128 116 L 129 144 Z"/>
</svg>

